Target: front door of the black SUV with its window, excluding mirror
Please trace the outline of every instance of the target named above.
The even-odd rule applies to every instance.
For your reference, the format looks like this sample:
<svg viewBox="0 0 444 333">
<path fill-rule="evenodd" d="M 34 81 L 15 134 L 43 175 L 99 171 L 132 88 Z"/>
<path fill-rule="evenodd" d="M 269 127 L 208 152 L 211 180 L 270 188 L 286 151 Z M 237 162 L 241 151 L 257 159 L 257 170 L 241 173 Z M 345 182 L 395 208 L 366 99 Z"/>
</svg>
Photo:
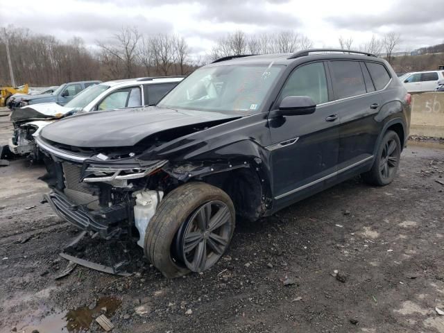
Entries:
<svg viewBox="0 0 444 333">
<path fill-rule="evenodd" d="M 339 116 L 332 114 L 324 62 L 297 67 L 284 84 L 277 103 L 286 96 L 310 96 L 313 114 L 268 119 L 273 145 L 273 192 L 278 206 L 321 190 L 335 176 L 339 152 Z"/>
</svg>

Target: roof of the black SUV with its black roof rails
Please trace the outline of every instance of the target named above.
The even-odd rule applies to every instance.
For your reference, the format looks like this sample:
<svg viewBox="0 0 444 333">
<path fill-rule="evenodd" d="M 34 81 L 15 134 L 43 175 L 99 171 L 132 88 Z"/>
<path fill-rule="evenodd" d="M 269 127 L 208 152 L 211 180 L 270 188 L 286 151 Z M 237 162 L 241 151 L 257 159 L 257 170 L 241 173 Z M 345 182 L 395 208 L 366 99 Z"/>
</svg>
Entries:
<svg viewBox="0 0 444 333">
<path fill-rule="evenodd" d="M 251 56 L 232 56 L 215 60 L 210 65 L 242 65 L 242 64 L 270 64 L 288 65 L 302 58 L 311 59 L 360 59 L 383 62 L 382 58 L 361 51 L 341 50 L 341 49 L 307 49 L 296 53 L 261 54 Z"/>
</svg>

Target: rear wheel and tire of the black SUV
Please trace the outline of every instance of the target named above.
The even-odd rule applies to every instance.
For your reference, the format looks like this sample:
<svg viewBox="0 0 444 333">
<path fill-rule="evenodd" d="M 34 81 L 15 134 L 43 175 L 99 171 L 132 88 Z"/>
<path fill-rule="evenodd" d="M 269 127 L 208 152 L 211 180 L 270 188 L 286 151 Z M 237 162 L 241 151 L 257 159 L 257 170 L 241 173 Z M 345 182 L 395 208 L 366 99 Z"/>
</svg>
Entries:
<svg viewBox="0 0 444 333">
<path fill-rule="evenodd" d="M 363 173 L 362 178 L 370 185 L 385 186 L 390 184 L 398 171 L 400 157 L 400 138 L 393 130 L 388 130 L 379 144 L 372 169 Z"/>
</svg>

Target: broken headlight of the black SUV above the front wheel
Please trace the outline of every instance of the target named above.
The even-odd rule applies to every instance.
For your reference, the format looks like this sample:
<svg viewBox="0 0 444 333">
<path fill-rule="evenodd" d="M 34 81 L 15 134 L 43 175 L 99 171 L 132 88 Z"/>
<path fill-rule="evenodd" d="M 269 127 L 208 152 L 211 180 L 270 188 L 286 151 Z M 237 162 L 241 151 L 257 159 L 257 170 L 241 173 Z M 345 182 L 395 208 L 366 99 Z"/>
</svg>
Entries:
<svg viewBox="0 0 444 333">
<path fill-rule="evenodd" d="M 136 167 L 136 168 L 125 168 L 125 167 L 99 167 L 90 165 L 87 167 L 85 172 L 88 174 L 83 178 L 83 182 L 110 182 L 113 180 L 129 180 L 136 178 L 143 178 L 153 173 L 157 169 L 160 169 L 165 164 L 167 160 L 156 161 L 148 167 Z"/>
</svg>

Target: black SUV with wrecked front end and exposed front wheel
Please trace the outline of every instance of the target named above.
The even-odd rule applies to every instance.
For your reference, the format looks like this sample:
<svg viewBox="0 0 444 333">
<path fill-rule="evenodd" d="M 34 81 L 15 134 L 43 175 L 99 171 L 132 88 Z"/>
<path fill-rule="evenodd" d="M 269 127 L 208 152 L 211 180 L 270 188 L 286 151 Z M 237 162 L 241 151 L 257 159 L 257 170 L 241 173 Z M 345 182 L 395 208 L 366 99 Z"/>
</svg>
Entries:
<svg viewBox="0 0 444 333">
<path fill-rule="evenodd" d="M 168 278 L 205 271 L 236 216 L 271 215 L 359 174 L 390 183 L 410 102 L 388 62 L 368 53 L 219 59 L 155 107 L 46 126 L 46 199 L 83 230 L 132 237 Z"/>
</svg>

